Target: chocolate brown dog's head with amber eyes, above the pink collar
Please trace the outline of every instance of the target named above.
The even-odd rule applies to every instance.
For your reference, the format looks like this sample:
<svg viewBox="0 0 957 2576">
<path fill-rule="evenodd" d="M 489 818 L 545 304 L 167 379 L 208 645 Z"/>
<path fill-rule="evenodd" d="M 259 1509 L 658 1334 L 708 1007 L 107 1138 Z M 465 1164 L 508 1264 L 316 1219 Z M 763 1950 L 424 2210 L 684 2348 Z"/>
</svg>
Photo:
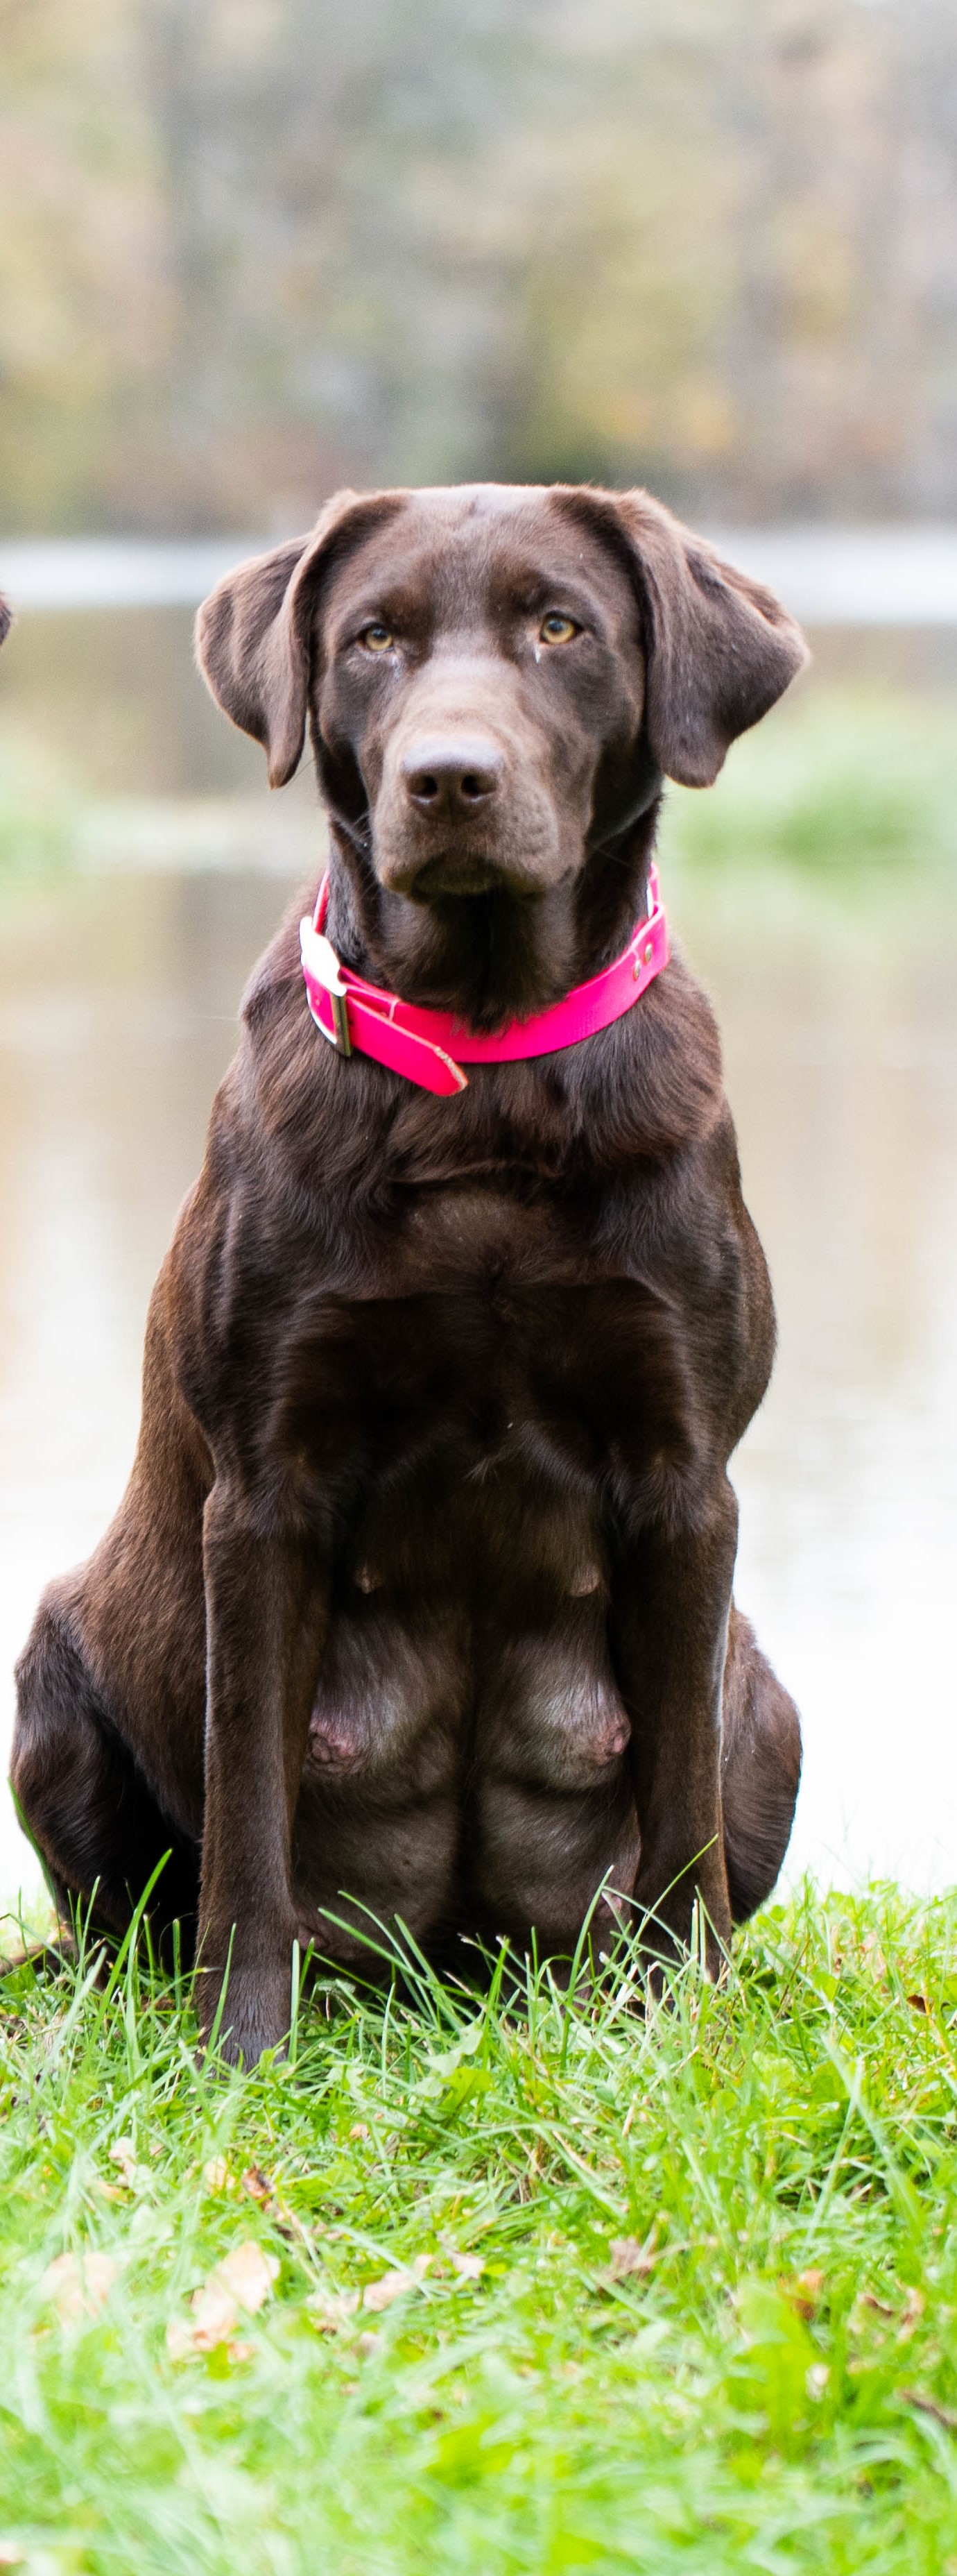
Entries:
<svg viewBox="0 0 957 2576">
<path fill-rule="evenodd" d="M 617 935 L 661 781 L 710 786 L 805 659 L 777 600 L 646 492 L 340 492 L 242 564 L 198 659 L 283 786 L 316 752 L 352 920 L 491 1023 Z"/>
</svg>

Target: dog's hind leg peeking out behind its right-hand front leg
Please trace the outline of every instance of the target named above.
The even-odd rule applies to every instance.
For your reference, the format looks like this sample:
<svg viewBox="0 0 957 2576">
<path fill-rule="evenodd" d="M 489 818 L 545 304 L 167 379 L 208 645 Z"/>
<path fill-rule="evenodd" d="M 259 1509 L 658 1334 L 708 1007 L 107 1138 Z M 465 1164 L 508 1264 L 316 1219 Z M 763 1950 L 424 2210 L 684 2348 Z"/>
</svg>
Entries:
<svg viewBox="0 0 957 2576">
<path fill-rule="evenodd" d="M 800 1718 L 761 1654 L 754 1628 L 731 1610 L 720 1806 L 733 1922 L 772 1893 L 787 1852 L 800 1783 Z"/>
</svg>

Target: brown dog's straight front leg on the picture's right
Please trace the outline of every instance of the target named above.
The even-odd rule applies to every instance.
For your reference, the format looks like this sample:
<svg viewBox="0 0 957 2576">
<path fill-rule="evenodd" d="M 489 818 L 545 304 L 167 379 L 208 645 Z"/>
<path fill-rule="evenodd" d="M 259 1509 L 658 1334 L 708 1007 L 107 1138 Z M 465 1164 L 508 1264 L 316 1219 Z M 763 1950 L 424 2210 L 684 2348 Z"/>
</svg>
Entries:
<svg viewBox="0 0 957 2576">
<path fill-rule="evenodd" d="M 612 1602 L 612 1651 L 630 1716 L 643 1947 L 679 1955 L 700 1899 L 710 1976 L 731 1940 L 720 1687 L 736 1540 L 738 1507 L 723 1479 L 692 1528 L 641 1535 Z"/>
</svg>

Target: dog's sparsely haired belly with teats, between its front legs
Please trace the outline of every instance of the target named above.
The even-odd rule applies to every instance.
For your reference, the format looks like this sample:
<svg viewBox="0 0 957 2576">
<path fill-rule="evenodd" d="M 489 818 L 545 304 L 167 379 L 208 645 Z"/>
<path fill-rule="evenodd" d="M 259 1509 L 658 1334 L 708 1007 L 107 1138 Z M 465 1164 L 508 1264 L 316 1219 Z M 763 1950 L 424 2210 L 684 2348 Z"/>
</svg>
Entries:
<svg viewBox="0 0 957 2576">
<path fill-rule="evenodd" d="M 437 1479 L 435 1528 L 399 1486 L 340 1587 L 296 1878 L 342 1960 L 396 1917 L 571 1950 L 602 1880 L 635 1875 L 597 1497 L 484 1466 Z"/>
</svg>

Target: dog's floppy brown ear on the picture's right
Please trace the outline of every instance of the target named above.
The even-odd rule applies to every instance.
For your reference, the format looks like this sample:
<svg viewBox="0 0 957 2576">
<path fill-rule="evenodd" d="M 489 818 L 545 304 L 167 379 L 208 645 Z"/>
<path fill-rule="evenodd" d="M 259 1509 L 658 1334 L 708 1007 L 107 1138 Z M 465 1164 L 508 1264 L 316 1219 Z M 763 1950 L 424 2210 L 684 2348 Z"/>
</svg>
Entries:
<svg viewBox="0 0 957 2576">
<path fill-rule="evenodd" d="M 581 502 L 599 513 L 641 595 L 656 765 L 687 788 L 710 788 L 731 742 L 808 662 L 800 626 L 648 492 L 584 492 Z"/>
</svg>

